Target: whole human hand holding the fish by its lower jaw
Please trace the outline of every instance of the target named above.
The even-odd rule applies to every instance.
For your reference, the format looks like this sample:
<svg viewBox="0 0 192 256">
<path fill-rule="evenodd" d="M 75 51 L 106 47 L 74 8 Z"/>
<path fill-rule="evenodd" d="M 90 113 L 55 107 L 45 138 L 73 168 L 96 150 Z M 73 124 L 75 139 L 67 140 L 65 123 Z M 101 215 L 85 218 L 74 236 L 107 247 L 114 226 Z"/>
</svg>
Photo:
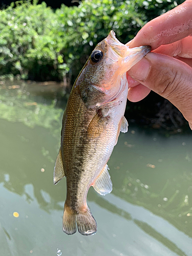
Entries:
<svg viewBox="0 0 192 256">
<path fill-rule="evenodd" d="M 153 90 L 181 111 L 192 130 L 191 13 L 192 0 L 186 0 L 148 22 L 127 43 L 130 48 L 150 45 L 153 50 L 127 72 L 127 98 L 136 102 Z"/>
</svg>

